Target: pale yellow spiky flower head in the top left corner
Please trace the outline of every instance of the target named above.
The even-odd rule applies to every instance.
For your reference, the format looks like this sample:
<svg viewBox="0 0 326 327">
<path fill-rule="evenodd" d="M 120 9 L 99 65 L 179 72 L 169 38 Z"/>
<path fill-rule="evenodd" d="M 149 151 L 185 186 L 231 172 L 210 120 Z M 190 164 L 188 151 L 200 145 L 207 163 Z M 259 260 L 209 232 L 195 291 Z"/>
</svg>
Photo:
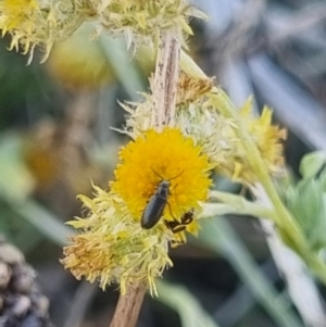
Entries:
<svg viewBox="0 0 326 327">
<path fill-rule="evenodd" d="M 89 10 L 84 11 L 86 15 Z M 10 49 L 29 52 L 41 46 L 47 59 L 53 42 L 66 38 L 80 25 L 80 5 L 66 0 L 3 0 L 0 1 L 0 29 L 11 35 Z"/>
</svg>

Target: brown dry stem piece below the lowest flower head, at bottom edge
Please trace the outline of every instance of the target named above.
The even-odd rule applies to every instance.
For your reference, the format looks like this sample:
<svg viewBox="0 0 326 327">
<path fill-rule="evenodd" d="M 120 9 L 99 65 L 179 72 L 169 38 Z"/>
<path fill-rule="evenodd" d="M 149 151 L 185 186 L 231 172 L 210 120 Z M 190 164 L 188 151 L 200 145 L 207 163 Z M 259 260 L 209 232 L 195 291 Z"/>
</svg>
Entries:
<svg viewBox="0 0 326 327">
<path fill-rule="evenodd" d="M 126 294 L 120 294 L 110 327 L 134 327 L 146 293 L 146 284 L 128 287 Z"/>
</svg>

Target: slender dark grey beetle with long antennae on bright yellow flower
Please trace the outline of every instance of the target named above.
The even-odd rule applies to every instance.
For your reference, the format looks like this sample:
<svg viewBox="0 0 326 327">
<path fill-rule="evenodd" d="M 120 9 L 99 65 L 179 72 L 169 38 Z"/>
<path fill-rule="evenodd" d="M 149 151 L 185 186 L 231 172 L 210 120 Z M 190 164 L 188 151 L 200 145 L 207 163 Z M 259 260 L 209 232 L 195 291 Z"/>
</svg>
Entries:
<svg viewBox="0 0 326 327">
<path fill-rule="evenodd" d="M 158 185 L 156 191 L 151 196 L 149 199 L 147 206 L 145 207 L 140 225 L 145 229 L 151 229 L 153 228 L 160 221 L 160 218 L 163 216 L 164 209 L 166 204 L 168 204 L 167 199 L 170 194 L 170 185 L 171 180 L 179 177 L 184 171 L 178 174 L 177 176 L 164 179 L 162 176 L 160 176 L 155 171 L 153 171 L 162 180 Z M 170 204 L 168 204 L 170 205 Z"/>
</svg>

